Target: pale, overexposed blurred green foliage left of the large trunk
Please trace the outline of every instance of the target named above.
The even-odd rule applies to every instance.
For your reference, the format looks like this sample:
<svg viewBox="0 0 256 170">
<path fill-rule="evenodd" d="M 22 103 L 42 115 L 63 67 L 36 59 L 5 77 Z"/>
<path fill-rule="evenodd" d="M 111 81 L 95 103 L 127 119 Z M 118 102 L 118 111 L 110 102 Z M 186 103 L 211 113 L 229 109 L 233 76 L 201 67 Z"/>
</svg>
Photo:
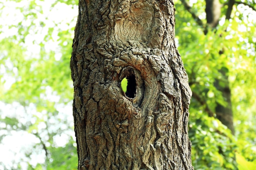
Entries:
<svg viewBox="0 0 256 170">
<path fill-rule="evenodd" d="M 9 164 L 1 162 L 0 169 L 77 169 L 69 66 L 77 4 L 77 0 L 0 4 L 4 16 L 0 23 L 0 104 L 4 102 L 0 147 L 14 131 L 26 132 L 31 151 L 22 149 L 25 146 L 17 154 L 8 151 L 24 154 Z M 70 19 L 61 19 L 63 9 Z"/>
</svg>

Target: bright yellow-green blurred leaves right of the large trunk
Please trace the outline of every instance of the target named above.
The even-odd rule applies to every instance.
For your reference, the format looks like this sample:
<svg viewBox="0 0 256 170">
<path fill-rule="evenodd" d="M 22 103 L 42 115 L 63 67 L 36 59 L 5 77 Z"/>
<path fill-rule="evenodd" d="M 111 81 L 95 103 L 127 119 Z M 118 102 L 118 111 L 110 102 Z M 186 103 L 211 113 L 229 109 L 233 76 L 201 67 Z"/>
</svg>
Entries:
<svg viewBox="0 0 256 170">
<path fill-rule="evenodd" d="M 193 166 L 197 170 L 236 169 L 235 152 L 247 161 L 256 160 L 256 126 L 253 123 L 256 122 L 256 20 L 249 17 L 256 12 L 236 5 L 232 19 L 227 21 L 227 6 L 224 6 L 222 22 L 216 29 L 208 28 L 205 35 L 203 3 L 203 0 L 193 1 L 191 7 L 204 24 L 198 25 L 184 9 L 182 1 L 175 1 L 178 50 L 193 92 L 189 119 Z M 256 7 L 255 3 L 251 5 Z M 228 70 L 228 79 L 219 72 L 223 68 Z M 209 112 L 214 116 L 216 103 L 227 106 L 222 93 L 214 86 L 216 79 L 229 81 L 237 139 L 217 119 L 209 117 Z M 237 163 L 241 168 L 241 161 Z"/>
</svg>

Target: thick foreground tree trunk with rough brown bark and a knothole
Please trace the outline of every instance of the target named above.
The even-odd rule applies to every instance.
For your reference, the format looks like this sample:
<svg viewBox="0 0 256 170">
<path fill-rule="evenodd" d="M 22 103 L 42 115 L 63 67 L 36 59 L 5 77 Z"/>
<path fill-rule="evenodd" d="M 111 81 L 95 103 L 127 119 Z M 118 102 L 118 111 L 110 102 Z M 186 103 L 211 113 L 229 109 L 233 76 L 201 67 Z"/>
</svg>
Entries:
<svg viewBox="0 0 256 170">
<path fill-rule="evenodd" d="M 172 0 L 79 0 L 70 63 L 79 170 L 193 170 L 174 21 Z"/>
</svg>

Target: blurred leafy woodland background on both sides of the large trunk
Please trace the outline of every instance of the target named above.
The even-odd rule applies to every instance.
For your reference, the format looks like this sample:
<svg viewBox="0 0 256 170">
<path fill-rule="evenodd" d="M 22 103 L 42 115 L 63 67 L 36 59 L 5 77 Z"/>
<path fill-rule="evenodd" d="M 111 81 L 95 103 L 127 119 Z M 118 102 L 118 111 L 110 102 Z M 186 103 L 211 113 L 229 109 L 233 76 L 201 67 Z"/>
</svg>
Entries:
<svg viewBox="0 0 256 170">
<path fill-rule="evenodd" d="M 174 0 L 195 170 L 255 170 L 256 1 Z M 78 0 L 0 0 L 0 170 L 76 170 Z"/>
</svg>

